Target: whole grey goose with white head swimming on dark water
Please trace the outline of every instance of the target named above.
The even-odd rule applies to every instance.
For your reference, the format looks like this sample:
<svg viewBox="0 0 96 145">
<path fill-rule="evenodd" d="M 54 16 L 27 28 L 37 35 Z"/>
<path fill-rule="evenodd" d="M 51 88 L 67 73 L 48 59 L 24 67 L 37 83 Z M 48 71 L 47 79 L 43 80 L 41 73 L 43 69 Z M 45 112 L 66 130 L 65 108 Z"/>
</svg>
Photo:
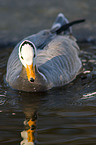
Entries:
<svg viewBox="0 0 96 145">
<path fill-rule="evenodd" d="M 67 18 L 58 14 L 49 30 L 20 41 L 7 63 L 6 81 L 13 89 L 40 92 L 70 83 L 80 73 L 80 49 Z"/>
</svg>

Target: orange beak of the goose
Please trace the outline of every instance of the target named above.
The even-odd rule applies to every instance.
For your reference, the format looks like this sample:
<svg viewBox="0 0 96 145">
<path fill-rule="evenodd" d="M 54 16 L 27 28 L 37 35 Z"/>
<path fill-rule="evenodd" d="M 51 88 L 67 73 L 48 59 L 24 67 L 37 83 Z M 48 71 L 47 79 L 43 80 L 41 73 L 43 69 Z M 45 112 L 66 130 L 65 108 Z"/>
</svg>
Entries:
<svg viewBox="0 0 96 145">
<path fill-rule="evenodd" d="M 29 81 L 31 79 L 35 80 L 35 66 L 33 67 L 33 63 L 31 65 L 27 65 L 26 72 Z"/>
</svg>

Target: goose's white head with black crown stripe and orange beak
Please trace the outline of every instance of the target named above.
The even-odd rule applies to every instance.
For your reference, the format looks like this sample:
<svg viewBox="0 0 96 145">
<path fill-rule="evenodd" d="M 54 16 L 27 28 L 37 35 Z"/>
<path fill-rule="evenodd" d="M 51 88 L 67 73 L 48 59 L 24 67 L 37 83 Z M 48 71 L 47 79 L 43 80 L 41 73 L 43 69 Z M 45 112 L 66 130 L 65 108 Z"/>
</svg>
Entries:
<svg viewBox="0 0 96 145">
<path fill-rule="evenodd" d="M 31 41 L 24 40 L 20 44 L 19 59 L 26 69 L 28 81 L 34 82 L 36 67 L 36 47 Z"/>
</svg>

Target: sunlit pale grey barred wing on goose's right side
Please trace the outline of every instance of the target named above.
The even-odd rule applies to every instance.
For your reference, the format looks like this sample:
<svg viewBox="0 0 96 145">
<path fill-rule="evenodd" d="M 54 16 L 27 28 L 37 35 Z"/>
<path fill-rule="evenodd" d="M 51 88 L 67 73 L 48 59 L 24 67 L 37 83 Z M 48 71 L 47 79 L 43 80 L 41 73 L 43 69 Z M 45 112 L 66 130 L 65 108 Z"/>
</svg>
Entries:
<svg viewBox="0 0 96 145">
<path fill-rule="evenodd" d="M 72 81 L 82 67 L 79 48 L 69 36 L 57 36 L 38 54 L 37 65 L 49 81 L 49 88 Z"/>
</svg>

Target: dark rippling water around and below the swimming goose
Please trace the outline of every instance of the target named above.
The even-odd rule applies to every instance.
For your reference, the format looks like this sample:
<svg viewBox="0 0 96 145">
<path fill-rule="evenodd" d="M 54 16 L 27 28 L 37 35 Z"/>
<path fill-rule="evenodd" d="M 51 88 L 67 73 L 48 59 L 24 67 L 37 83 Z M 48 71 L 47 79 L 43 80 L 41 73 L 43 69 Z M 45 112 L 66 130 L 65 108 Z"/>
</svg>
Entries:
<svg viewBox="0 0 96 145">
<path fill-rule="evenodd" d="M 34 115 L 31 141 L 37 145 L 96 144 L 96 46 L 79 45 L 84 73 L 65 87 L 36 94 L 13 91 L 4 83 L 11 49 L 0 49 L 0 145 L 19 145 Z"/>
</svg>

